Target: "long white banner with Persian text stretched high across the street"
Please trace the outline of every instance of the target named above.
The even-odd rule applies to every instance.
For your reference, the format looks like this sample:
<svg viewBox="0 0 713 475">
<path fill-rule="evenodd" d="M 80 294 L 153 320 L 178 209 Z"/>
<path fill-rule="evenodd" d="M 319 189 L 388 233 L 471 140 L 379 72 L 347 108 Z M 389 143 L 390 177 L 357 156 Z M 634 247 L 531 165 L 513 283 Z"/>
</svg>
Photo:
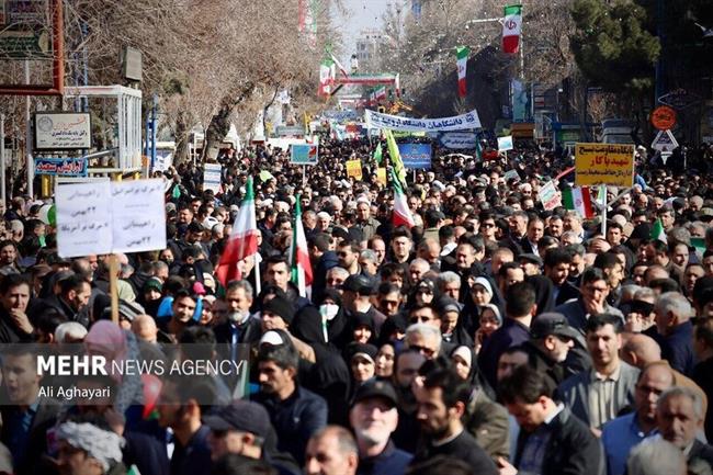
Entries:
<svg viewBox="0 0 713 475">
<path fill-rule="evenodd" d="M 391 128 L 392 131 L 401 132 L 450 132 L 480 127 L 480 118 L 475 109 L 465 114 L 441 118 L 401 117 L 366 109 L 364 111 L 364 122 L 370 128 Z"/>
</svg>

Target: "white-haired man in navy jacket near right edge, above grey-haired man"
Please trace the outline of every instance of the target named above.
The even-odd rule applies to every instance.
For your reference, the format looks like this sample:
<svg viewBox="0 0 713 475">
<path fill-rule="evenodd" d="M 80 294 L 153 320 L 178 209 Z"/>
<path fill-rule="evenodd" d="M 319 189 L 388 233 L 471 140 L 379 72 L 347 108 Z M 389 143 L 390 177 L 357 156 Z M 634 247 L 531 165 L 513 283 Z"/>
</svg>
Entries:
<svg viewBox="0 0 713 475">
<path fill-rule="evenodd" d="M 695 364 L 691 344 L 691 304 L 678 292 L 666 292 L 658 297 L 654 312 L 661 357 L 668 360 L 672 369 L 687 375 L 691 374 Z"/>
</svg>

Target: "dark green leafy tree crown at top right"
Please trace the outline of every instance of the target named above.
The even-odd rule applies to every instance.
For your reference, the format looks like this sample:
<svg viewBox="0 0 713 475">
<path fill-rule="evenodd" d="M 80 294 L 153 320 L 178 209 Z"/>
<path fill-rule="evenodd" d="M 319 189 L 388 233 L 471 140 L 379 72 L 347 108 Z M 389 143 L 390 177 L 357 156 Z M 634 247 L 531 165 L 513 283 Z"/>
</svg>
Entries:
<svg viewBox="0 0 713 475">
<path fill-rule="evenodd" d="M 571 18 L 570 47 L 592 86 L 610 92 L 643 92 L 653 86 L 660 45 L 646 30 L 645 9 L 626 0 L 576 0 Z"/>
</svg>

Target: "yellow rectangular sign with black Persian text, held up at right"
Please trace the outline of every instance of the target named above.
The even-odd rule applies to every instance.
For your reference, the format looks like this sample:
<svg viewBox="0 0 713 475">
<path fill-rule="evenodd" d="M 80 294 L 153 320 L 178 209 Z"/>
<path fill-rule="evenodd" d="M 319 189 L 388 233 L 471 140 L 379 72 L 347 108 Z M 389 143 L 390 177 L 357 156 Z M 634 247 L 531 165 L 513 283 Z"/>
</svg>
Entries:
<svg viewBox="0 0 713 475">
<path fill-rule="evenodd" d="M 634 185 L 634 146 L 621 144 L 577 144 L 575 185 Z"/>
</svg>

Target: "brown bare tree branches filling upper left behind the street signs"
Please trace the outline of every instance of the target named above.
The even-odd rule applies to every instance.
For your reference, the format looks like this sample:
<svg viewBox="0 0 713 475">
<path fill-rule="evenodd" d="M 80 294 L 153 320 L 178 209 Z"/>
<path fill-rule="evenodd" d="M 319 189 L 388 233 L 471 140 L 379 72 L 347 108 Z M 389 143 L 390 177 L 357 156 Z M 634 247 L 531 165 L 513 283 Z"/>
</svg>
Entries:
<svg viewBox="0 0 713 475">
<path fill-rule="evenodd" d="M 324 43 L 339 41 L 330 30 L 330 0 L 317 2 L 316 46 L 297 32 L 297 2 L 292 0 L 64 0 L 64 4 L 65 82 L 81 83 L 86 71 L 89 84 L 123 83 L 121 50 L 138 48 L 145 110 L 158 94 L 161 121 L 176 135 L 179 160 L 188 157 L 185 144 L 195 125 L 206 129 L 205 150 L 223 140 L 234 121 L 248 129 L 269 101 L 265 90 L 314 94 Z M 36 71 L 39 67 L 33 65 Z M 0 69 L 0 76 L 12 75 L 21 82 L 21 67 Z M 8 105 L 3 101 L 0 109 L 21 116 L 21 103 Z M 102 106 L 92 114 L 106 126 L 116 120 Z"/>
</svg>

